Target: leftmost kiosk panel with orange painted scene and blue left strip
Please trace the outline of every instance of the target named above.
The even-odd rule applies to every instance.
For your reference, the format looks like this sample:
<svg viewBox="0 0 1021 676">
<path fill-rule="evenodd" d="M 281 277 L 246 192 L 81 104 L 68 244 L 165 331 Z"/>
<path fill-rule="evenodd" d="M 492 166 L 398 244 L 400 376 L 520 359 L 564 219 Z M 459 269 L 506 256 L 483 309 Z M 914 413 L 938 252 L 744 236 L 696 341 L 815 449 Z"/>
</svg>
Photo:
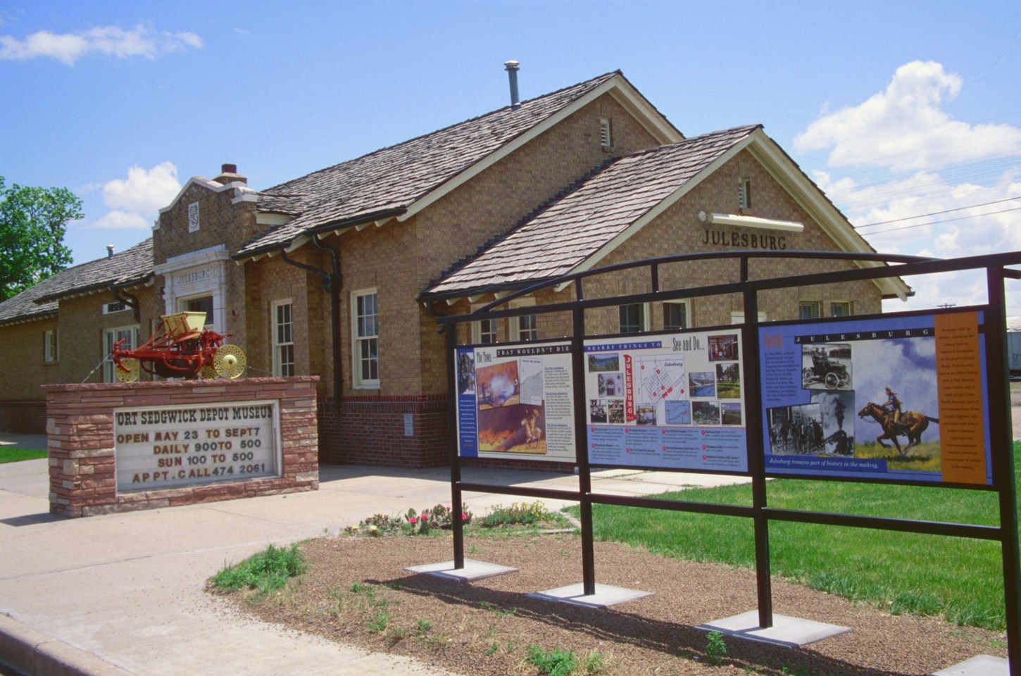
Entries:
<svg viewBox="0 0 1021 676">
<path fill-rule="evenodd" d="M 461 347 L 455 363 L 461 456 L 575 462 L 570 343 Z"/>
</svg>

